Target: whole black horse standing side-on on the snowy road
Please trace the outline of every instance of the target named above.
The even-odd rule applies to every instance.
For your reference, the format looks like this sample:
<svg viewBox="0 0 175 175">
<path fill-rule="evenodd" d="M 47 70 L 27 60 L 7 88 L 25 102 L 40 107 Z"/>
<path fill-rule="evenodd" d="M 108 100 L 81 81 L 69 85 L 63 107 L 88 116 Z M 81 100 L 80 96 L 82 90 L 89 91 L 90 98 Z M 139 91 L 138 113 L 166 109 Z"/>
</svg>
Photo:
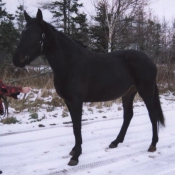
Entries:
<svg viewBox="0 0 175 175">
<path fill-rule="evenodd" d="M 83 102 L 114 100 L 122 96 L 124 122 L 117 138 L 109 145 L 123 142 L 133 116 L 133 99 L 143 98 L 152 123 L 153 137 L 148 151 L 155 151 L 158 124 L 164 116 L 156 85 L 157 69 L 142 52 L 123 50 L 106 54 L 93 53 L 43 20 L 38 9 L 36 18 L 24 12 L 27 25 L 13 57 L 15 66 L 24 67 L 44 54 L 53 69 L 54 85 L 64 99 L 73 122 L 75 146 L 69 165 L 77 165 L 82 153 L 81 118 Z"/>
</svg>

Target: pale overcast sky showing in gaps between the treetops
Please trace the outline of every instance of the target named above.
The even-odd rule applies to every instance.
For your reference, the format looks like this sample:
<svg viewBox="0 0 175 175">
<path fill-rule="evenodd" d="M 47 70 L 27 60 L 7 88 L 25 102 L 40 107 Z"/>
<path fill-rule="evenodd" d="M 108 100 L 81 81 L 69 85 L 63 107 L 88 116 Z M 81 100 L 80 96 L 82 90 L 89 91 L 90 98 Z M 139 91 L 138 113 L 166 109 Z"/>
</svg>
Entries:
<svg viewBox="0 0 175 175">
<path fill-rule="evenodd" d="M 2 0 L 6 3 L 6 9 L 9 13 L 14 14 L 17 6 L 21 0 Z M 38 9 L 38 2 L 44 2 L 46 0 L 25 0 L 27 11 L 29 14 L 35 16 Z M 47 0 L 48 1 L 48 0 Z M 153 3 L 150 5 L 153 13 L 163 19 L 165 17 L 168 21 L 171 21 L 172 18 L 175 18 L 175 0 L 151 0 Z M 84 10 L 86 13 L 92 13 L 91 0 L 80 0 L 84 3 Z M 44 19 L 49 21 L 51 14 L 45 10 L 43 12 Z"/>
</svg>

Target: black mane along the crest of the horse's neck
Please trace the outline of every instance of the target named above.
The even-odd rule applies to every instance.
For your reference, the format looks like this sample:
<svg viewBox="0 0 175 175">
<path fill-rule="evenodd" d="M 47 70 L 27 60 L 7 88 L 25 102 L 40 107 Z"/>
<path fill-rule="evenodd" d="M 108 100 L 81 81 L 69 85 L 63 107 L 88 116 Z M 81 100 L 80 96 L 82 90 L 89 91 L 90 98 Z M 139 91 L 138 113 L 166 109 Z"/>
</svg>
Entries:
<svg viewBox="0 0 175 175">
<path fill-rule="evenodd" d="M 45 22 L 45 21 L 44 21 L 44 22 Z M 65 38 L 67 38 L 68 40 L 70 40 L 71 42 L 73 42 L 74 44 L 76 44 L 76 45 L 78 45 L 78 46 L 80 46 L 80 47 L 87 48 L 87 46 L 84 45 L 82 42 L 80 42 L 80 41 L 78 41 L 78 40 L 75 40 L 75 39 L 72 39 L 71 36 L 66 35 L 66 34 L 64 34 L 64 33 L 61 32 L 61 31 L 58 31 L 53 25 L 51 25 L 51 24 L 49 24 L 49 23 L 47 23 L 47 22 L 45 22 L 45 23 L 46 23 L 46 25 L 49 26 L 49 28 L 50 28 L 54 33 L 58 33 L 58 34 L 64 36 Z"/>
</svg>

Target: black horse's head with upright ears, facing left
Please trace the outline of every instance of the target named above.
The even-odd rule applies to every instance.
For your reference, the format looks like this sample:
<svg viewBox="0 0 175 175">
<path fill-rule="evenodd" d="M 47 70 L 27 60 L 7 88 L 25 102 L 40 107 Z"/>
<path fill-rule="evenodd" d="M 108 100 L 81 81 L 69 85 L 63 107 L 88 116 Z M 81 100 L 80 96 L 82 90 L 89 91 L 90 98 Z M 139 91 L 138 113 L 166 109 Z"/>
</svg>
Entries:
<svg viewBox="0 0 175 175">
<path fill-rule="evenodd" d="M 38 9 L 36 18 L 31 18 L 24 12 L 25 20 L 27 21 L 26 28 L 21 34 L 21 38 L 15 54 L 13 63 L 17 67 L 24 67 L 30 64 L 43 51 L 45 40 L 44 21 L 42 12 Z"/>
</svg>

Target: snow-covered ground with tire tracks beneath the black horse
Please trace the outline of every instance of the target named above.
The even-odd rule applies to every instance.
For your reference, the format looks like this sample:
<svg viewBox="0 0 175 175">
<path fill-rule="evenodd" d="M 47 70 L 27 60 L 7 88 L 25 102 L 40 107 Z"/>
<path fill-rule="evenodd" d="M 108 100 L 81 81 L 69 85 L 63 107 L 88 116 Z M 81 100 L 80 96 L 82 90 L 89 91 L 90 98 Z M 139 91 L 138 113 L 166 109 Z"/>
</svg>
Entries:
<svg viewBox="0 0 175 175">
<path fill-rule="evenodd" d="M 125 141 L 116 149 L 108 145 L 121 128 L 122 104 L 100 110 L 84 105 L 83 154 L 75 167 L 67 165 L 74 146 L 70 117 L 63 118 L 61 108 L 40 109 L 39 117 L 45 116 L 40 122 L 31 122 L 23 111 L 15 115 L 21 124 L 0 124 L 0 170 L 3 175 L 174 175 L 175 96 L 167 93 L 160 100 L 166 127 L 159 130 L 154 153 L 147 152 L 152 128 L 143 102 L 134 103 Z"/>
</svg>

